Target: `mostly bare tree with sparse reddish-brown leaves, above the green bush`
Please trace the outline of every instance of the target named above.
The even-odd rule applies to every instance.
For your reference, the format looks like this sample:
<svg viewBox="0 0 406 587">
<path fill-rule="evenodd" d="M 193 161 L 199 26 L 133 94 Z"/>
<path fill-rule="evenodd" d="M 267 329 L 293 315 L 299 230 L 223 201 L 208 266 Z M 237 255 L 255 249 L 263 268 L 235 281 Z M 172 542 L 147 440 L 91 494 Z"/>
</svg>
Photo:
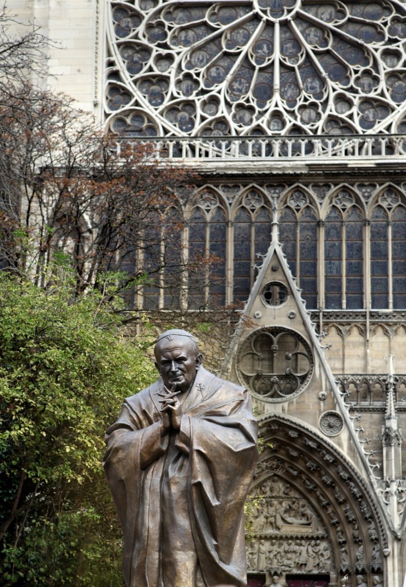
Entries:
<svg viewBox="0 0 406 587">
<path fill-rule="evenodd" d="M 120 141 L 118 154 L 117 136 L 33 85 L 46 74 L 39 29 L 13 36 L 11 25 L 22 25 L 5 6 L 0 24 L 0 266 L 46 285 L 43 269 L 62 251 L 75 259 L 78 292 L 123 266 L 180 303 L 180 275 L 202 261 L 186 261 L 180 239 L 191 173 L 158 161 L 151 146 Z"/>
</svg>

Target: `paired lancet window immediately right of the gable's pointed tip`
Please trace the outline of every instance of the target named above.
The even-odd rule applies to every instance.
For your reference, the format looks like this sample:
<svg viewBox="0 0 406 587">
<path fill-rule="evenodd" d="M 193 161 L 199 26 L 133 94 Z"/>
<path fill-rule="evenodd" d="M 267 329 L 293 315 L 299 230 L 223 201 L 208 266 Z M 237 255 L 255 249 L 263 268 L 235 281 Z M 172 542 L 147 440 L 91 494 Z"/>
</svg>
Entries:
<svg viewBox="0 0 406 587">
<path fill-rule="evenodd" d="M 294 194 L 296 201 L 297 193 Z M 306 198 L 304 194 L 302 197 Z M 317 308 L 317 218 L 310 205 L 302 208 L 297 205 L 297 208 L 295 211 L 287 206 L 283 210 L 279 220 L 279 235 L 290 271 L 302 289 L 306 307 L 314 309 Z"/>
</svg>

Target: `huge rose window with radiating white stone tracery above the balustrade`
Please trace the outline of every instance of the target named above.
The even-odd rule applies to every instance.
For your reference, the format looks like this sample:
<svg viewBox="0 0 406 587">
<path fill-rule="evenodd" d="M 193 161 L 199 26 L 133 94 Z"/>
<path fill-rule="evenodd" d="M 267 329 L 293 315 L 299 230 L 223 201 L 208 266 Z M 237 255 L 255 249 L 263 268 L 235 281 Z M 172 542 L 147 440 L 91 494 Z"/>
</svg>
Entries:
<svg viewBox="0 0 406 587">
<path fill-rule="evenodd" d="M 107 121 L 127 136 L 406 126 L 401 2 L 110 0 L 109 20 Z"/>
</svg>

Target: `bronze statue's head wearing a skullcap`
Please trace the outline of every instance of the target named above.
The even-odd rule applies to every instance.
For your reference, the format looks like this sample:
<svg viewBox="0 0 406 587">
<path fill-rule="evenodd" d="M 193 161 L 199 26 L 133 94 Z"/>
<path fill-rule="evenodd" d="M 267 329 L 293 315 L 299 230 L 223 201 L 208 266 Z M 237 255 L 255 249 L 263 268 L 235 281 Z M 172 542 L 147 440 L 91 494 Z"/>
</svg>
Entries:
<svg viewBox="0 0 406 587">
<path fill-rule="evenodd" d="M 175 384 L 177 391 L 189 391 L 202 364 L 194 336 L 186 330 L 167 330 L 158 337 L 154 353 L 155 367 L 165 386 L 171 389 Z"/>
</svg>

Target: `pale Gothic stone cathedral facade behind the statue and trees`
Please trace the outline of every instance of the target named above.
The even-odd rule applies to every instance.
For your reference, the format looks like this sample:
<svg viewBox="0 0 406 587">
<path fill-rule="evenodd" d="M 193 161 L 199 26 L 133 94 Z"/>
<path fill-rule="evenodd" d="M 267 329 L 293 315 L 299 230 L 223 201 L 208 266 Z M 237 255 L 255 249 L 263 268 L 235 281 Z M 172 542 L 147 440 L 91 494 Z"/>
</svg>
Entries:
<svg viewBox="0 0 406 587">
<path fill-rule="evenodd" d="M 184 8 L 15 0 L 12 12 L 60 43 L 45 85 L 201 173 L 204 201 L 184 214 L 208 242 L 216 218 L 221 295 L 246 301 L 223 375 L 251 389 L 265 441 L 251 584 L 400 587 L 404 6 Z"/>
</svg>

